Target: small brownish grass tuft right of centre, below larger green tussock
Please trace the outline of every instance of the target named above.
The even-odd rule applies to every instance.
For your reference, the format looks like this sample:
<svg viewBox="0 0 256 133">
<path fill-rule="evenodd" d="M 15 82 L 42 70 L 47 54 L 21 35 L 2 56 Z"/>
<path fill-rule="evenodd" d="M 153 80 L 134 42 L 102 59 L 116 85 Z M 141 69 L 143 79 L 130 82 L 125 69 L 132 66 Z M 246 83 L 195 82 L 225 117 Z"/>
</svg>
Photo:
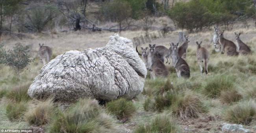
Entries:
<svg viewBox="0 0 256 133">
<path fill-rule="evenodd" d="M 225 90 L 221 91 L 221 96 L 220 100 L 223 103 L 232 103 L 232 102 L 237 102 L 242 99 L 242 95 L 239 94 L 236 90 Z"/>
</svg>

